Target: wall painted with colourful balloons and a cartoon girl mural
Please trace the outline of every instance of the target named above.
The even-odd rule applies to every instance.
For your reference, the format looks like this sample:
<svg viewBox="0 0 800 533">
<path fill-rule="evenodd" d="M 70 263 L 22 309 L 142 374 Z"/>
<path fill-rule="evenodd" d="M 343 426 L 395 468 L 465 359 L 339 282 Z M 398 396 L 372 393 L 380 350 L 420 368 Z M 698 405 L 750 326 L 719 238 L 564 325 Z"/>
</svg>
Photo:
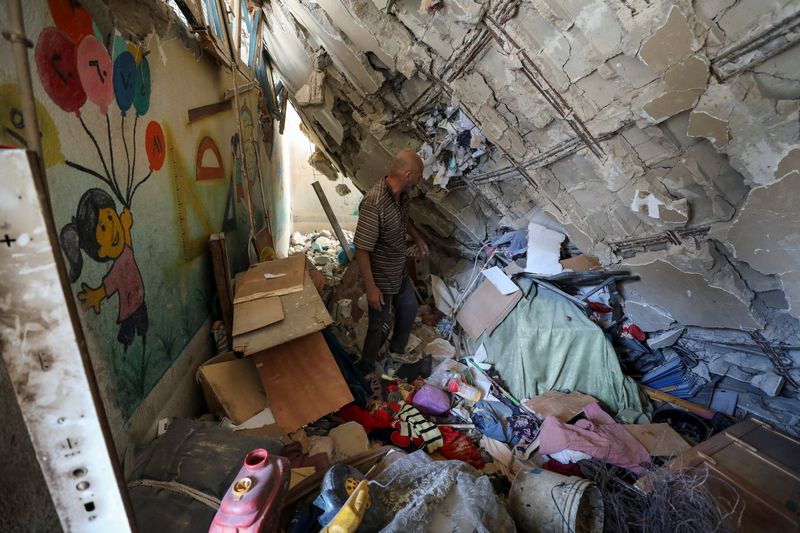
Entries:
<svg viewBox="0 0 800 533">
<path fill-rule="evenodd" d="M 275 215 L 268 202 L 288 198 L 261 198 L 259 175 L 268 193 L 281 179 L 280 139 L 272 154 L 257 141 L 255 92 L 238 110 L 189 119 L 189 109 L 223 99 L 230 70 L 200 51 L 165 3 L 89 5 L 23 11 L 53 215 L 117 432 L 212 312 L 209 235 L 224 231 L 231 268 L 246 268 L 249 205 L 261 227 L 264 206 Z M 0 142 L 22 146 L 6 41 L 0 57 Z M 237 113 L 249 183 L 232 155 Z"/>
</svg>

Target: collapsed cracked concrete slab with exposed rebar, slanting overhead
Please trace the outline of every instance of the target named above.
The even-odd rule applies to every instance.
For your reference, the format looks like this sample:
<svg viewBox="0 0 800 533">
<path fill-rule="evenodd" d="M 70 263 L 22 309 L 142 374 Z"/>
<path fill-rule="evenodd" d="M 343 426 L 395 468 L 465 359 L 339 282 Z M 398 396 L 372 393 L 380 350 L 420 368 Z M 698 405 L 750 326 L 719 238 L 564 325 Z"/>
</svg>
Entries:
<svg viewBox="0 0 800 533">
<path fill-rule="evenodd" d="M 320 48 L 330 55 L 325 102 L 300 113 L 362 191 L 396 151 L 430 142 L 436 105 L 486 137 L 480 172 L 447 189 L 426 181 L 414 200 L 440 254 L 472 257 L 540 207 L 584 253 L 641 275 L 627 311 L 646 329 L 785 338 L 797 327 L 796 2 L 444 0 L 420 12 L 411 0 L 277 0 L 265 11 L 290 89 Z"/>
</svg>

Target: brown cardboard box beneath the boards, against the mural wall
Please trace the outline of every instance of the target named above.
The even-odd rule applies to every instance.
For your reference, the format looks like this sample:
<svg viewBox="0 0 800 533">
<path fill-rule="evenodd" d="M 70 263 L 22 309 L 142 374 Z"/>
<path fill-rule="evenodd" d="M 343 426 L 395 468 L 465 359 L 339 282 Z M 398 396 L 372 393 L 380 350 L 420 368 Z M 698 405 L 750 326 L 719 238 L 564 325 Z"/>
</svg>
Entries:
<svg viewBox="0 0 800 533">
<path fill-rule="evenodd" d="M 252 359 L 226 352 L 206 361 L 197 370 L 208 410 L 241 424 L 269 407 L 267 394 Z"/>
</svg>

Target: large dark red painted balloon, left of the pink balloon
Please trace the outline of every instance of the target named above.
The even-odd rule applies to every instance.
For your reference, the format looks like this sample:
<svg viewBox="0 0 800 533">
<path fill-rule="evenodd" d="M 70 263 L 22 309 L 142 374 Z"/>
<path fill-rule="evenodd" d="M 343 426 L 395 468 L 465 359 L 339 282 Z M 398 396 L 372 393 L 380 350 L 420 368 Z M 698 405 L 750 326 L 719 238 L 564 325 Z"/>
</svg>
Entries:
<svg viewBox="0 0 800 533">
<path fill-rule="evenodd" d="M 36 67 L 45 92 L 64 111 L 78 112 L 86 92 L 78 76 L 77 52 L 66 33 L 45 28 L 36 43 Z"/>
</svg>

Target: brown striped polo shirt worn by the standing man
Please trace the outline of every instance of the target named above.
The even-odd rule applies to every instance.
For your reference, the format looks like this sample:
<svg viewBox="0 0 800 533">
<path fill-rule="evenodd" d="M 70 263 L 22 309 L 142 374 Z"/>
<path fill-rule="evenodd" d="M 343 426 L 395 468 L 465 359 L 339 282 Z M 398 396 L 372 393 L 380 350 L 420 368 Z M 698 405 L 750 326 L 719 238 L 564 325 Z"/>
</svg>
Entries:
<svg viewBox="0 0 800 533">
<path fill-rule="evenodd" d="M 361 200 L 353 243 L 369 252 L 372 277 L 384 294 L 397 294 L 406 271 L 406 222 L 410 198 L 398 203 L 386 178 L 378 181 Z"/>
</svg>

